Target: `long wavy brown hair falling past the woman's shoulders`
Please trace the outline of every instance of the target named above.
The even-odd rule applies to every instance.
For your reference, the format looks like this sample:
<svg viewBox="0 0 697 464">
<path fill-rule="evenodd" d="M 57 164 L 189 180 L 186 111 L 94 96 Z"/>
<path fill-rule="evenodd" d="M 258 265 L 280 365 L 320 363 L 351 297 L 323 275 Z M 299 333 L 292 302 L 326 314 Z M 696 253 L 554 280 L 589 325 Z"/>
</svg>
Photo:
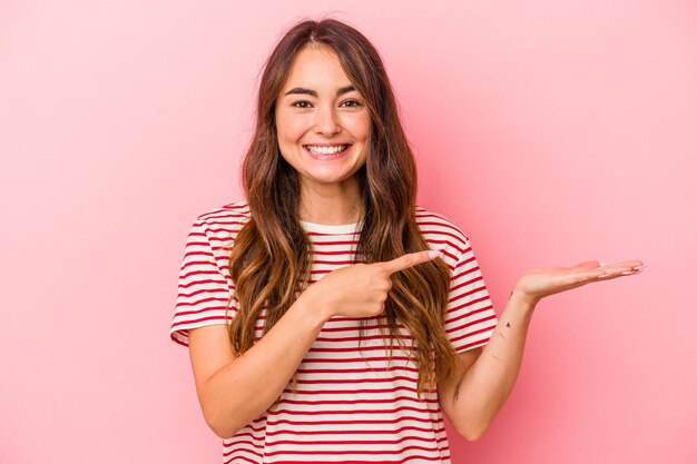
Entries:
<svg viewBox="0 0 697 464">
<path fill-rule="evenodd" d="M 380 55 L 354 28 L 334 19 L 305 20 L 291 28 L 271 53 L 258 91 L 256 129 L 242 167 L 251 219 L 239 230 L 229 270 L 235 282 L 238 314 L 229 325 L 235 355 L 255 343 L 255 325 L 266 309 L 266 334 L 306 288 L 312 243 L 298 218 L 300 179 L 281 156 L 275 103 L 295 56 L 307 45 L 330 47 L 371 115 L 365 165 L 356 172 L 364 216 L 356 256 L 365 263 L 385 261 L 430 249 L 415 217 L 416 169 L 400 122 L 396 100 Z M 451 381 L 458 357 L 443 319 L 450 272 L 441 259 L 392 275 L 392 289 L 381 315 L 389 328 L 389 358 L 394 340 L 419 368 L 418 394 Z M 361 335 L 365 328 L 361 325 Z M 406 346 L 400 326 L 412 337 Z M 293 376 L 296 389 L 296 375 Z"/>
</svg>

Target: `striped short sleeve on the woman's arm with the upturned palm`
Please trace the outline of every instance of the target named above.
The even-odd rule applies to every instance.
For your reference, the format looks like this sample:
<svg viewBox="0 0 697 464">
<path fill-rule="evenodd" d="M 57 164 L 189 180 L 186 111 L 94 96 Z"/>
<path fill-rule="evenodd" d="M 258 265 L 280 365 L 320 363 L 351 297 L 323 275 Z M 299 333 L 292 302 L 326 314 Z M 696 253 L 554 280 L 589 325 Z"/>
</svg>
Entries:
<svg viewBox="0 0 697 464">
<path fill-rule="evenodd" d="M 457 353 L 485 345 L 498 318 L 468 240 L 451 273 L 445 333 Z"/>
</svg>

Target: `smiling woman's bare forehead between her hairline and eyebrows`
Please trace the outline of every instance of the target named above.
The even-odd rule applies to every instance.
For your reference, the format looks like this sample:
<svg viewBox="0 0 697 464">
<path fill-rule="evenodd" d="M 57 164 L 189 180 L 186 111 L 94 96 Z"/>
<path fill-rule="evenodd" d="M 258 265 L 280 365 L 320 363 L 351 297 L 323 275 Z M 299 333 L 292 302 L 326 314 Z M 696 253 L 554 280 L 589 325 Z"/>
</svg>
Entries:
<svg viewBox="0 0 697 464">
<path fill-rule="evenodd" d="M 284 89 L 304 87 L 308 89 L 337 89 L 352 83 L 330 47 L 305 46 L 293 60 Z"/>
</svg>

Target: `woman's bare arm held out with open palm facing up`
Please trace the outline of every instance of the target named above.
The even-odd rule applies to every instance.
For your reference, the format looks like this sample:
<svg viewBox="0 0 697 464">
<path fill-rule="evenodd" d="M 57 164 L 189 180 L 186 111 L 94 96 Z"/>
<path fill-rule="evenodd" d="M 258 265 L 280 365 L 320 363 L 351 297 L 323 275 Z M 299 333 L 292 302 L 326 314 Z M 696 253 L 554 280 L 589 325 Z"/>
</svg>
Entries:
<svg viewBox="0 0 697 464">
<path fill-rule="evenodd" d="M 532 269 L 519 280 L 481 355 L 465 352 L 457 379 L 439 385 L 440 404 L 453 427 L 465 440 L 478 440 L 511 393 L 520 365 L 528 327 L 537 303 L 544 296 L 599 280 L 637 274 L 641 261 L 600 266 L 582 263 L 572 268 Z"/>
</svg>

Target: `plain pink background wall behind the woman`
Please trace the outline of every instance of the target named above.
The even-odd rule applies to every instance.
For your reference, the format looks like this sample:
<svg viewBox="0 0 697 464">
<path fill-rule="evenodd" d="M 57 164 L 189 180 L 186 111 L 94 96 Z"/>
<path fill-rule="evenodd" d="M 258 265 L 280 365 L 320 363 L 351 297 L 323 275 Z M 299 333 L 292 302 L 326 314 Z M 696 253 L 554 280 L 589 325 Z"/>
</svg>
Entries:
<svg viewBox="0 0 697 464">
<path fill-rule="evenodd" d="M 240 198 L 263 60 L 325 12 L 383 55 L 420 204 L 470 236 L 499 314 L 529 267 L 648 264 L 540 304 L 513 395 L 480 442 L 450 434 L 453 462 L 697 462 L 697 4 L 677 0 L 4 0 L 0 462 L 220 462 L 167 335 L 184 241 Z"/>
</svg>

